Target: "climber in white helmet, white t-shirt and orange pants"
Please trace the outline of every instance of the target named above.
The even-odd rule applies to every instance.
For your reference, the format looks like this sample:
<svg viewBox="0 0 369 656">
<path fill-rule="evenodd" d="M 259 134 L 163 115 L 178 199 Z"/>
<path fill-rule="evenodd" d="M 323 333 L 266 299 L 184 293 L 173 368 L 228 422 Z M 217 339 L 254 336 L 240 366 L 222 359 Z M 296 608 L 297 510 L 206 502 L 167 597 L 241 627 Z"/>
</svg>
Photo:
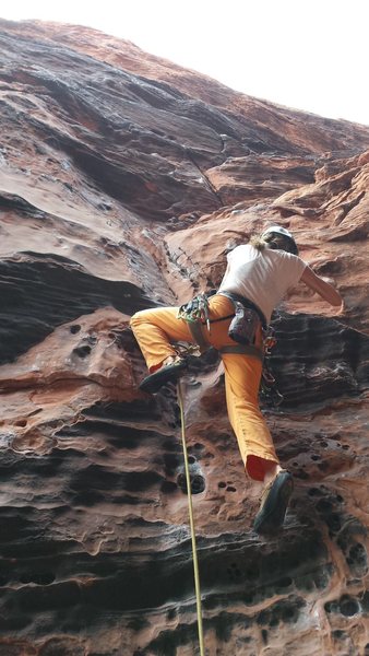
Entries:
<svg viewBox="0 0 369 656">
<path fill-rule="evenodd" d="M 155 393 L 184 373 L 186 358 L 176 351 L 174 342 L 197 341 L 219 351 L 228 417 L 246 472 L 264 483 L 253 523 L 259 534 L 275 532 L 283 526 L 294 487 L 290 472 L 281 467 L 259 408 L 263 328 L 287 290 L 298 282 L 343 312 L 341 294 L 298 256 L 291 233 L 272 225 L 228 253 L 221 286 L 206 300 L 205 307 L 199 305 L 199 298 L 204 302 L 200 295 L 198 304 L 189 304 L 188 315 L 188 306 L 159 307 L 138 312 L 131 318 L 131 328 L 150 372 L 140 385 L 144 391 Z"/>
</svg>

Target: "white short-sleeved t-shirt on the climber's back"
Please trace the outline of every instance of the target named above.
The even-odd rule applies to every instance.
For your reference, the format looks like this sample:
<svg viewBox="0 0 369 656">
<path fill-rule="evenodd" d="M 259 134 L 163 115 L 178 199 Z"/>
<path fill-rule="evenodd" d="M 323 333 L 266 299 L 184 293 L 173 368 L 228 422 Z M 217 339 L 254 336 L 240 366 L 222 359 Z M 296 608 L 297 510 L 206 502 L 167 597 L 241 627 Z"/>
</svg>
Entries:
<svg viewBox="0 0 369 656">
<path fill-rule="evenodd" d="M 288 288 L 300 280 L 306 262 L 285 250 L 265 247 L 258 250 L 250 244 L 237 246 L 228 253 L 228 272 L 219 292 L 241 294 L 260 307 L 266 321 Z"/>
</svg>

